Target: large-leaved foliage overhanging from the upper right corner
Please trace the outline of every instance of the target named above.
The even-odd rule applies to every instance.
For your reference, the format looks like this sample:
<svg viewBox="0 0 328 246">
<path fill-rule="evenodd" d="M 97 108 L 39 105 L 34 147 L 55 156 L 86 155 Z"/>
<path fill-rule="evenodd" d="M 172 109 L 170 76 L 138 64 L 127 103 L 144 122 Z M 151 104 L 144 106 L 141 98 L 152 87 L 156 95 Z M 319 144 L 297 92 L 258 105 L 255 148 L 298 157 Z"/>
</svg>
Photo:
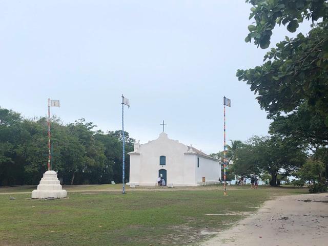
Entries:
<svg viewBox="0 0 328 246">
<path fill-rule="evenodd" d="M 250 19 L 246 42 L 254 40 L 268 48 L 276 24 L 295 32 L 304 19 L 317 21 L 308 35 L 286 37 L 264 56 L 263 65 L 238 70 L 239 80 L 247 82 L 258 94 L 262 108 L 274 117 L 289 113 L 306 103 L 328 125 L 328 1 L 324 0 L 249 0 Z"/>
</svg>

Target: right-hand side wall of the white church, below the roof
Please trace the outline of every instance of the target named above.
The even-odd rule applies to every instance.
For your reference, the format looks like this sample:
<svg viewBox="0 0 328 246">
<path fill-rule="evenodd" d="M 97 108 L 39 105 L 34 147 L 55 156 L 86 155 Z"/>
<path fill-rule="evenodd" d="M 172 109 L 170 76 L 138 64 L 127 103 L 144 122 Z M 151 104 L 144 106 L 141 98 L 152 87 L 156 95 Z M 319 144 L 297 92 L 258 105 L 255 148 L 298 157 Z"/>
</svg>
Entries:
<svg viewBox="0 0 328 246">
<path fill-rule="evenodd" d="M 202 178 L 205 177 L 206 184 L 217 184 L 221 177 L 219 162 L 202 156 L 198 156 L 198 158 L 199 167 L 196 167 L 196 182 L 202 184 Z"/>
</svg>

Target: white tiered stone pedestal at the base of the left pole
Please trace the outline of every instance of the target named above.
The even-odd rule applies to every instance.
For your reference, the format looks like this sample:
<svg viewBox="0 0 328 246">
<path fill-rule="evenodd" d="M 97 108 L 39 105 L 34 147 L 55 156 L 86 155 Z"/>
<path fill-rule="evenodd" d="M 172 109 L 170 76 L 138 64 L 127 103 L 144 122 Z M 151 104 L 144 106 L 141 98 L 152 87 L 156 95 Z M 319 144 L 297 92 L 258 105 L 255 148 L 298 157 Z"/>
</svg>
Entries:
<svg viewBox="0 0 328 246">
<path fill-rule="evenodd" d="M 40 180 L 37 190 L 32 192 L 32 198 L 37 199 L 54 199 L 64 198 L 67 192 L 61 189 L 60 182 L 55 171 L 47 171 Z"/>
</svg>

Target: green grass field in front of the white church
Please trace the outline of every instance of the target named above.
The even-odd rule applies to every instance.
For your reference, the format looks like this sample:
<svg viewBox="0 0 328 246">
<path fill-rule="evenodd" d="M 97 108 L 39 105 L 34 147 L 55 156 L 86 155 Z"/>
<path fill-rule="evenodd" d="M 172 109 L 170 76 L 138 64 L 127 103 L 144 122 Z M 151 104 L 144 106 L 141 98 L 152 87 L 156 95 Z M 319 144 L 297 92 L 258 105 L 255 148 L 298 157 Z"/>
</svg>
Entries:
<svg viewBox="0 0 328 246">
<path fill-rule="evenodd" d="M 197 245 L 212 232 L 233 226 L 265 200 L 308 193 L 238 186 L 223 197 L 222 186 L 206 186 L 131 189 L 122 195 L 120 187 L 66 187 L 68 198 L 57 200 L 12 194 L 33 190 L 29 186 L 0 188 L 0 193 L 16 198 L 0 195 L 0 245 Z"/>
</svg>

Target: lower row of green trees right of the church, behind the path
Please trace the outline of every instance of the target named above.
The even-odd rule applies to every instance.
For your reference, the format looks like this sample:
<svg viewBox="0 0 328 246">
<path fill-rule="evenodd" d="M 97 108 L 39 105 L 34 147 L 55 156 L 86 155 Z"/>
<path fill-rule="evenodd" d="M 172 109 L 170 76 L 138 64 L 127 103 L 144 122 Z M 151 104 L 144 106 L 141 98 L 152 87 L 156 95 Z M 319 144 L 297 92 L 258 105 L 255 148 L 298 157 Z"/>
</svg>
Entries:
<svg viewBox="0 0 328 246">
<path fill-rule="evenodd" d="M 281 181 L 302 186 L 305 183 L 326 183 L 328 178 L 328 156 L 326 148 L 309 152 L 295 138 L 281 135 L 253 136 L 248 141 L 232 141 L 227 145 L 227 180 L 255 175 L 269 180 L 270 185 Z M 223 152 L 212 154 L 223 161 Z"/>
</svg>

